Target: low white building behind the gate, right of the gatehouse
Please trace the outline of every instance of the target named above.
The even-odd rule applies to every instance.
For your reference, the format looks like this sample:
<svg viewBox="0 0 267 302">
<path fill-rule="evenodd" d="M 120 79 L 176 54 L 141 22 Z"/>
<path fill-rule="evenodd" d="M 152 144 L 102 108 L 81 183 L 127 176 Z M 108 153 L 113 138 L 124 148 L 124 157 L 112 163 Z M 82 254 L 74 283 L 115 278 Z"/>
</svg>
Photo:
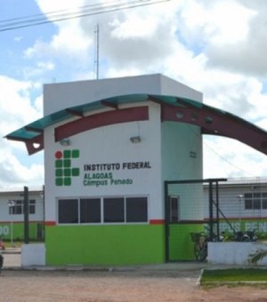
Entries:
<svg viewBox="0 0 267 302">
<path fill-rule="evenodd" d="M 210 219 L 209 188 L 204 186 L 205 220 Z M 215 200 L 215 196 L 214 196 Z M 217 218 L 220 232 L 253 231 L 267 239 L 267 179 L 228 179 L 219 184 L 218 208 L 214 204 L 213 217 Z"/>
</svg>

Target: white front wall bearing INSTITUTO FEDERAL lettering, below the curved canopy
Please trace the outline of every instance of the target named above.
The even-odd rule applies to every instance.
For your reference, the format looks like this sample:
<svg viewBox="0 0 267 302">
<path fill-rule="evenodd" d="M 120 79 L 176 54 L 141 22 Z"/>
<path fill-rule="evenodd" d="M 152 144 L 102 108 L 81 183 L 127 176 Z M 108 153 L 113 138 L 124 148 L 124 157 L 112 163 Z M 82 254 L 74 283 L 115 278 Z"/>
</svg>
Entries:
<svg viewBox="0 0 267 302">
<path fill-rule="evenodd" d="M 151 133 L 154 133 L 151 135 Z M 130 138 L 140 136 L 140 143 Z M 53 128 L 45 132 L 46 220 L 56 221 L 57 197 L 148 196 L 149 219 L 163 219 L 161 206 L 160 110 L 150 103 L 150 120 L 120 123 L 85 131 L 70 138 L 70 146 L 53 142 Z M 72 160 L 80 171 L 69 187 L 55 184 L 55 154 L 64 149 L 79 150 Z M 111 164 L 112 169 L 103 164 Z M 99 165 L 99 168 L 96 167 Z M 147 167 L 142 167 L 146 165 Z M 89 170 L 88 170 L 89 169 Z M 92 169 L 90 171 L 90 169 Z M 100 179 L 97 179 L 100 178 Z M 118 184 L 124 180 L 125 184 Z M 99 185 L 95 184 L 99 181 Z"/>
</svg>

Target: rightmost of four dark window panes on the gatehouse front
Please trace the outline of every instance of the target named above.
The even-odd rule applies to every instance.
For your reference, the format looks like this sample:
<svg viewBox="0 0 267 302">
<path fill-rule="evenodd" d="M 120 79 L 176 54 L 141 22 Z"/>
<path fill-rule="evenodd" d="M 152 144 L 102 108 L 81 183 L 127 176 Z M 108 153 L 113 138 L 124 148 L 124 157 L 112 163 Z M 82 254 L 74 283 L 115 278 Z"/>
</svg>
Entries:
<svg viewBox="0 0 267 302">
<path fill-rule="evenodd" d="M 126 198 L 126 222 L 148 221 L 147 197 Z"/>
</svg>

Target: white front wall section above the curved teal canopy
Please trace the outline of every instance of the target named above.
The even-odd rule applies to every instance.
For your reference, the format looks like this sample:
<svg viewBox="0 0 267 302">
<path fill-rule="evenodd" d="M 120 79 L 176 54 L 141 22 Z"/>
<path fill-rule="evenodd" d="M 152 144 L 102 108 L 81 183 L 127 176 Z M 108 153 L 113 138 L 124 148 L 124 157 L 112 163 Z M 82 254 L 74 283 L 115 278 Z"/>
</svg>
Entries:
<svg viewBox="0 0 267 302">
<path fill-rule="evenodd" d="M 54 83 L 44 85 L 44 115 L 118 95 L 161 94 L 160 75 Z"/>
</svg>

